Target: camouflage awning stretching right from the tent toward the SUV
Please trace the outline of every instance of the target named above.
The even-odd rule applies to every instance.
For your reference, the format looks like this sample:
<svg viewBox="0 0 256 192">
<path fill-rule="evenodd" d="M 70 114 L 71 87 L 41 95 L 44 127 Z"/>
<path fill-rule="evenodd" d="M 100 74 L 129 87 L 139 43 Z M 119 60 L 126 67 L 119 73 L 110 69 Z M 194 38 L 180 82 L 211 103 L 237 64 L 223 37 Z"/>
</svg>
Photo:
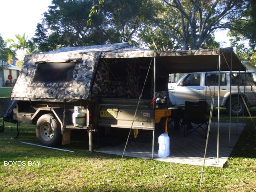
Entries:
<svg viewBox="0 0 256 192">
<path fill-rule="evenodd" d="M 208 50 L 154 51 L 127 47 L 101 54 L 104 58 L 156 57 L 156 64 L 162 65 L 169 73 L 216 71 L 220 56 L 221 70 L 246 70 L 232 48 Z"/>
</svg>

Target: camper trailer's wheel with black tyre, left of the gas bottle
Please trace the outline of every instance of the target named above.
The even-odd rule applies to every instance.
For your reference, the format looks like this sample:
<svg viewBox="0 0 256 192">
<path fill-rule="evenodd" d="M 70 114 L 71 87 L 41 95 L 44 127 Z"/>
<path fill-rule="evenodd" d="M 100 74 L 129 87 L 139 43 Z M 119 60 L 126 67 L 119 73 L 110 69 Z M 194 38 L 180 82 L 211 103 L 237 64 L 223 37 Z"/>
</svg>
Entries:
<svg viewBox="0 0 256 192">
<path fill-rule="evenodd" d="M 52 114 L 42 115 L 36 123 L 36 136 L 45 146 L 60 144 L 62 134 L 60 124 Z"/>
</svg>

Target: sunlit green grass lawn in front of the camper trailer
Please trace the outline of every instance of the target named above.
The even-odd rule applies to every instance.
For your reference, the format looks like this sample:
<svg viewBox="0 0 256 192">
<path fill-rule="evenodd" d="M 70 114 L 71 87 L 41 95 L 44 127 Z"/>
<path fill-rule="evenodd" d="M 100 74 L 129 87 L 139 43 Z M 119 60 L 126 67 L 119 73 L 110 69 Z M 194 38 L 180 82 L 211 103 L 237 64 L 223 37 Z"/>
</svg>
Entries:
<svg viewBox="0 0 256 192">
<path fill-rule="evenodd" d="M 227 119 L 222 110 L 221 120 Z M 16 139 L 16 125 L 6 123 L 0 133 L 0 191 L 256 191 L 256 130 L 249 118 L 243 121 L 244 131 L 224 168 L 205 167 L 202 187 L 201 166 L 125 157 L 116 174 L 120 156 L 88 152 L 86 132 L 72 134 L 72 143 L 61 148 L 74 152 L 63 152 L 21 144 L 38 144 L 34 126 L 21 124 Z M 26 165 L 4 166 L 4 161 Z"/>
</svg>

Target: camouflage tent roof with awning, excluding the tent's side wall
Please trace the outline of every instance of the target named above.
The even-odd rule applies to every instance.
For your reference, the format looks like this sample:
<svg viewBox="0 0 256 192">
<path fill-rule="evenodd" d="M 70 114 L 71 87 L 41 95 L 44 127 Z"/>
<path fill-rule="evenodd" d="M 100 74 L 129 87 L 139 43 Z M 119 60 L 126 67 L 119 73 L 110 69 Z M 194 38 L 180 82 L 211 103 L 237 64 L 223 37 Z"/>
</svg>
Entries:
<svg viewBox="0 0 256 192">
<path fill-rule="evenodd" d="M 60 54 L 65 56 L 74 53 L 88 54 L 94 56 L 100 54 L 101 58 L 145 58 L 156 57 L 156 63 L 161 64 L 169 73 L 185 73 L 200 71 L 218 70 L 218 58 L 221 59 L 221 70 L 246 70 L 237 58 L 232 48 L 217 48 L 208 50 L 178 50 L 178 51 L 154 51 L 144 48 L 136 48 L 128 43 L 84 46 L 84 47 L 65 47 L 50 52 L 37 55 L 38 60 L 48 58 L 45 55 Z M 70 57 L 70 56 L 69 56 Z M 69 58 L 70 59 L 70 58 Z"/>
</svg>

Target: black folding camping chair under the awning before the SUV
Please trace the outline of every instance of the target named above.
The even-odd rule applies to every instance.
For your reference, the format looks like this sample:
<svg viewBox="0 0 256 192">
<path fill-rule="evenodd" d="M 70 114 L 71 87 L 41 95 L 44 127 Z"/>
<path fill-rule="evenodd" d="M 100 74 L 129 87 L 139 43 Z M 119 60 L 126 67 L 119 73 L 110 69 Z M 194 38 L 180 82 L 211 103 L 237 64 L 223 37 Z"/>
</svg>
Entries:
<svg viewBox="0 0 256 192">
<path fill-rule="evenodd" d="M 206 114 L 207 102 L 185 102 L 185 125 L 184 125 L 184 136 L 196 131 L 201 136 L 206 138 L 206 132 L 208 128 L 208 118 Z M 192 125 L 193 124 L 193 125 Z M 199 131 L 201 128 L 203 130 Z"/>
</svg>

